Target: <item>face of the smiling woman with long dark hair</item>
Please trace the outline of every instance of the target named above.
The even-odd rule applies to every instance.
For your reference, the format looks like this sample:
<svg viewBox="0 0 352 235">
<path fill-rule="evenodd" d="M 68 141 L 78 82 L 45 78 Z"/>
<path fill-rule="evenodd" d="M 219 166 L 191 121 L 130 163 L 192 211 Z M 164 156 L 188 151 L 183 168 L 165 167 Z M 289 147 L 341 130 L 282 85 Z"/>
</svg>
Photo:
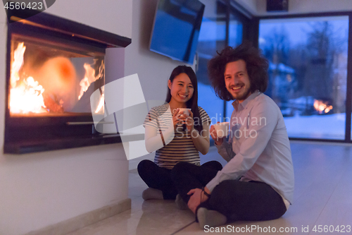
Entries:
<svg viewBox="0 0 352 235">
<path fill-rule="evenodd" d="M 168 87 L 171 92 L 171 99 L 176 102 L 185 103 L 189 101 L 193 95 L 194 88 L 191 83 L 191 79 L 186 73 L 180 73 L 174 80 L 168 80 Z"/>
</svg>

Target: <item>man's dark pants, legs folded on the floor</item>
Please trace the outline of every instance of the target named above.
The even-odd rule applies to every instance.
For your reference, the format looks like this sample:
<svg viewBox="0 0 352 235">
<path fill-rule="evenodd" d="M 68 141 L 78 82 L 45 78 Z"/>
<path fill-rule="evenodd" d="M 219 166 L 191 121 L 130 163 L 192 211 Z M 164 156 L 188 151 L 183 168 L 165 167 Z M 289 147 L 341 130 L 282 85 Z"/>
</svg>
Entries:
<svg viewBox="0 0 352 235">
<path fill-rule="evenodd" d="M 171 178 L 178 193 L 188 203 L 190 195 L 187 193 L 193 188 L 203 188 L 217 173 L 214 169 L 179 162 L 172 169 Z M 220 212 L 227 217 L 227 223 L 277 219 L 286 212 L 281 195 L 267 183 L 259 181 L 222 181 L 199 207 Z"/>
</svg>

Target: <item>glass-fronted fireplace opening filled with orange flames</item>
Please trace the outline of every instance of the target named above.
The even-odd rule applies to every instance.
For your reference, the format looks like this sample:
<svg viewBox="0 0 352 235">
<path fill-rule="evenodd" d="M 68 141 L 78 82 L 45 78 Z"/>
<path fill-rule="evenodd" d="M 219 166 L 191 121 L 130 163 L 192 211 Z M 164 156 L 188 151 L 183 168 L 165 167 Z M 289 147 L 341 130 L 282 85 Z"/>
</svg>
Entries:
<svg viewBox="0 0 352 235">
<path fill-rule="evenodd" d="M 103 53 L 13 34 L 10 66 L 10 116 L 89 115 L 97 89 L 95 113 L 104 114 Z"/>
</svg>

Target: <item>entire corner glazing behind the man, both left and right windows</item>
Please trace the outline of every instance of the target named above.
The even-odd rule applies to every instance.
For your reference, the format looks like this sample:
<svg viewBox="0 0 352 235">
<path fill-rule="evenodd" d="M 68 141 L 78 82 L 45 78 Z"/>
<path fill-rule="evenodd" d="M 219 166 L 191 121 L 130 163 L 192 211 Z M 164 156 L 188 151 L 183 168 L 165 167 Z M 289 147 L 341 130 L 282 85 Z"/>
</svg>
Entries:
<svg viewBox="0 0 352 235">
<path fill-rule="evenodd" d="M 234 1 L 201 1 L 206 11 L 196 74 L 199 105 L 212 123 L 230 117 L 233 107 L 210 87 L 208 61 L 227 45 L 251 40 L 270 62 L 265 94 L 281 109 L 289 137 L 351 142 L 351 12 L 254 18 Z"/>
</svg>

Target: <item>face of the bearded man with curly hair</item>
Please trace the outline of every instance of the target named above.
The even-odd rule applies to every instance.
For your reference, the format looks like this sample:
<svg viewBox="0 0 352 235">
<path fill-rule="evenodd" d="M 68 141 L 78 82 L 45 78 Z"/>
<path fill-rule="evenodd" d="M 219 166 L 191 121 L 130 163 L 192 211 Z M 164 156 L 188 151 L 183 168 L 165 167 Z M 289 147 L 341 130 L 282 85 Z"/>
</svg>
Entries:
<svg viewBox="0 0 352 235">
<path fill-rule="evenodd" d="M 225 85 L 235 100 L 239 103 L 251 95 L 251 82 L 246 69 L 246 62 L 240 59 L 226 64 Z"/>
</svg>

